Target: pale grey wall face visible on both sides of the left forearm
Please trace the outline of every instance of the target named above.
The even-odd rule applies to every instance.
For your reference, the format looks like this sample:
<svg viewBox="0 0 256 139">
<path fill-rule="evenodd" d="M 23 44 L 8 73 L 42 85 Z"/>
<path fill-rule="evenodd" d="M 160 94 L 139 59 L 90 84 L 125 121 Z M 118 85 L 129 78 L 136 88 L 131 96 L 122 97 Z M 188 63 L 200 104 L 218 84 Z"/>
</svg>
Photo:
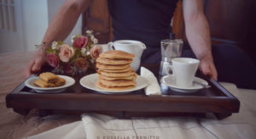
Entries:
<svg viewBox="0 0 256 139">
<path fill-rule="evenodd" d="M 48 19 L 49 22 L 53 19 L 55 13 L 66 0 L 48 0 Z M 73 31 L 67 36 L 65 42 L 71 44 L 71 36 L 81 34 L 82 32 L 82 16 L 80 15 L 77 24 L 73 28 Z"/>
</svg>

